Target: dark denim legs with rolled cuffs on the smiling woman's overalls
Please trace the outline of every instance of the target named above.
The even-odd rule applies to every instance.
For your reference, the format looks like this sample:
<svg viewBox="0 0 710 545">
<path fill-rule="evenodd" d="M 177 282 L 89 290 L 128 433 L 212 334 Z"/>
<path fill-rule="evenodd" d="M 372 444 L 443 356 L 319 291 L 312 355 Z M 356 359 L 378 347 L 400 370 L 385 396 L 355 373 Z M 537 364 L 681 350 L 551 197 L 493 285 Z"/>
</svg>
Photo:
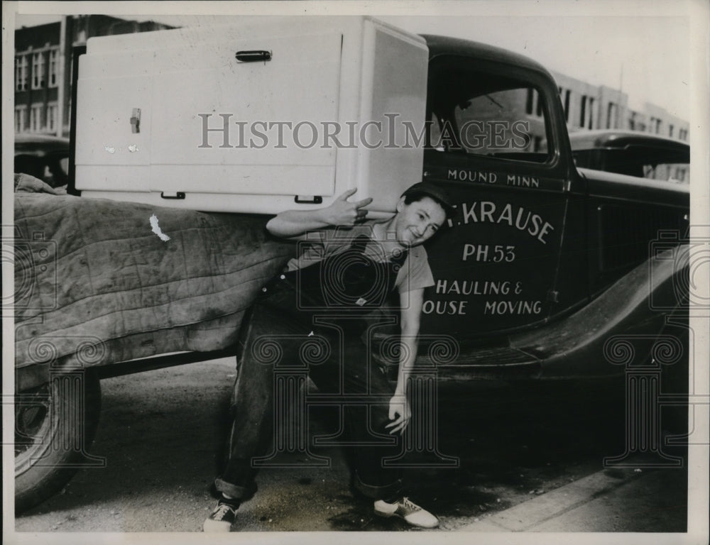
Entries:
<svg viewBox="0 0 710 545">
<path fill-rule="evenodd" d="M 384 427 L 391 422 L 392 385 L 383 370 L 370 363 L 368 348 L 360 338 L 362 329 L 351 326 L 354 321 L 341 319 L 339 326 L 315 326 L 310 314 L 293 311 L 293 297 L 286 292 L 262 299 L 245 316 L 229 459 L 215 487 L 239 500 L 248 500 L 256 492 L 258 468 L 252 458 L 265 456 L 273 448 L 274 373 L 288 366 L 307 370 L 320 394 L 345 394 L 354 402 L 344 403 L 341 410 L 345 412 L 346 439 L 353 445 L 350 459 L 355 488 L 373 499 L 399 495 L 400 470 L 383 466 L 383 458 L 398 456 L 401 451 L 399 436 Z M 309 356 L 304 343 L 323 339 L 329 355 Z"/>
</svg>

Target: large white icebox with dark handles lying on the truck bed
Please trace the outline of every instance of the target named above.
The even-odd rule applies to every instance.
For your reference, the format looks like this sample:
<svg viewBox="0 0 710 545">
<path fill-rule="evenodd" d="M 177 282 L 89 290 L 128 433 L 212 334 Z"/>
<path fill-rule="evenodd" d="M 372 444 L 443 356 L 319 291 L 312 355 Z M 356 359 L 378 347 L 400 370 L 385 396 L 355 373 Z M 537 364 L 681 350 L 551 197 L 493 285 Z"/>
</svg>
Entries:
<svg viewBox="0 0 710 545">
<path fill-rule="evenodd" d="M 422 176 L 425 41 L 368 17 L 245 17 L 89 38 L 84 197 L 271 214 L 346 189 L 393 211 Z"/>
</svg>

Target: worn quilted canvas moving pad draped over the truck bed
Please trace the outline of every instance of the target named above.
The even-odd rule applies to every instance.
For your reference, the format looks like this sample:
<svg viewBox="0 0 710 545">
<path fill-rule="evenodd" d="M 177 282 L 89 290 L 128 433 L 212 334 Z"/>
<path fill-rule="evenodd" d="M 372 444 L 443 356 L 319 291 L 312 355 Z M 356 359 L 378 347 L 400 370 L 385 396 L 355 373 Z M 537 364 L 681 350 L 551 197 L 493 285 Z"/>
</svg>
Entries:
<svg viewBox="0 0 710 545">
<path fill-rule="evenodd" d="M 295 253 L 266 219 L 16 194 L 16 366 L 227 348 Z"/>
</svg>

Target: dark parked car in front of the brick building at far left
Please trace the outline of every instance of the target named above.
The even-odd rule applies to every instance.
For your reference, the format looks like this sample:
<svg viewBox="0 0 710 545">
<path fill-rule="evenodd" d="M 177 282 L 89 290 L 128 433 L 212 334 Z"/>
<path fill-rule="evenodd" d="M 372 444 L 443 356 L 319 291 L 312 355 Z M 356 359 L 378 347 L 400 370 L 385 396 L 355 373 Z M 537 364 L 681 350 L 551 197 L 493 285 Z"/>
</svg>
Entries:
<svg viewBox="0 0 710 545">
<path fill-rule="evenodd" d="M 51 187 L 69 181 L 69 138 L 44 134 L 15 135 L 15 172 L 43 180 Z"/>
</svg>

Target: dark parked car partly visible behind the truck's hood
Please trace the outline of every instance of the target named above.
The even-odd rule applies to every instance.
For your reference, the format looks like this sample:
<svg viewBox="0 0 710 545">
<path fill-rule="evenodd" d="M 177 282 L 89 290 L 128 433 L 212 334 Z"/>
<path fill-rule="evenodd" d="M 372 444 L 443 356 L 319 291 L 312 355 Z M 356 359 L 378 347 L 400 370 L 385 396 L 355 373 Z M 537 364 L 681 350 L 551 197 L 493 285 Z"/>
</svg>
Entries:
<svg viewBox="0 0 710 545">
<path fill-rule="evenodd" d="M 690 146 L 638 131 L 579 131 L 569 135 L 577 167 L 688 183 Z"/>
</svg>

